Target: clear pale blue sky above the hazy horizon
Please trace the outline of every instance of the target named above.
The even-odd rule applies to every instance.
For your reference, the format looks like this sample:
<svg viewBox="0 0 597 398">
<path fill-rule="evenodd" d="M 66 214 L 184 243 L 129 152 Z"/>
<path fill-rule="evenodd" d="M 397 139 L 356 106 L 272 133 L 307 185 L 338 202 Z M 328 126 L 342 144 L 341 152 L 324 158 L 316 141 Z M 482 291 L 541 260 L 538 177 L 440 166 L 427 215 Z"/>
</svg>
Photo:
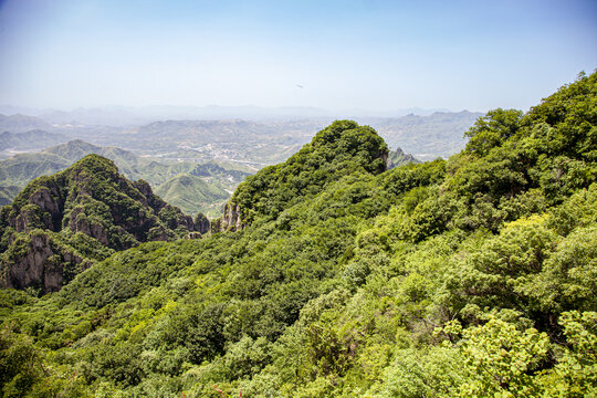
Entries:
<svg viewBox="0 0 597 398">
<path fill-rule="evenodd" d="M 0 104 L 526 111 L 595 67 L 596 0 L 0 0 Z"/>
</svg>

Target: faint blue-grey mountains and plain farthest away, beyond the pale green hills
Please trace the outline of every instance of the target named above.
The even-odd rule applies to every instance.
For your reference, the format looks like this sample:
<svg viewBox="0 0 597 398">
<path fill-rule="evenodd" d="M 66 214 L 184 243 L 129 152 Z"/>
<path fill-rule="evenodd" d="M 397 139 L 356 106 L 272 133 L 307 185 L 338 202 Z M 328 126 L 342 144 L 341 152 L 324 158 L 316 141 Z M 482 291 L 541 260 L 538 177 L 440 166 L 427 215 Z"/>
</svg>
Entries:
<svg viewBox="0 0 597 398">
<path fill-rule="evenodd" d="M 280 117 L 251 116 L 255 114 Z M 462 111 L 400 117 L 357 115 L 354 118 L 374 127 L 391 149 L 400 147 L 420 160 L 429 160 L 447 158 L 461 150 L 465 144 L 463 133 L 479 116 L 479 113 Z M 165 161 L 216 159 L 250 166 L 254 172 L 287 159 L 333 119 L 332 114 L 317 108 L 251 106 L 103 107 L 50 112 L 39 117 L 0 116 L 0 127 L 6 132 L 0 129 L 0 157 L 83 139 Z"/>
</svg>

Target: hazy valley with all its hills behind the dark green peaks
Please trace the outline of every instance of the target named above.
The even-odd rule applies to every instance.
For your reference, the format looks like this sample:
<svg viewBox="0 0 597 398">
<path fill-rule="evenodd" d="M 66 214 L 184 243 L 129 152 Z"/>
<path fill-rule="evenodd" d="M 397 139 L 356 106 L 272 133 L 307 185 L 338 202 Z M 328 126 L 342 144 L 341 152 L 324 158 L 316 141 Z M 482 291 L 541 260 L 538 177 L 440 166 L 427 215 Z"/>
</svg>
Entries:
<svg viewBox="0 0 597 398">
<path fill-rule="evenodd" d="M 4 158 L 0 160 L 0 201 L 9 203 L 35 177 L 60 171 L 87 154 L 98 154 L 114 160 L 127 178 L 147 180 L 166 201 L 185 212 L 218 217 L 245 176 L 284 161 L 333 121 L 301 118 L 301 114 L 281 117 L 279 109 L 250 109 L 253 113 L 244 114 L 248 119 L 166 119 L 144 125 L 117 125 L 118 116 L 111 125 L 90 124 L 107 117 L 101 109 L 0 115 L 0 157 Z M 226 107 L 219 111 L 238 112 Z M 56 123 L 56 114 L 70 122 Z M 462 149 L 463 133 L 481 116 L 467 111 L 427 114 L 357 119 L 376 126 L 390 148 L 418 161 L 447 158 Z M 133 116 L 127 119 L 133 121 Z"/>
</svg>

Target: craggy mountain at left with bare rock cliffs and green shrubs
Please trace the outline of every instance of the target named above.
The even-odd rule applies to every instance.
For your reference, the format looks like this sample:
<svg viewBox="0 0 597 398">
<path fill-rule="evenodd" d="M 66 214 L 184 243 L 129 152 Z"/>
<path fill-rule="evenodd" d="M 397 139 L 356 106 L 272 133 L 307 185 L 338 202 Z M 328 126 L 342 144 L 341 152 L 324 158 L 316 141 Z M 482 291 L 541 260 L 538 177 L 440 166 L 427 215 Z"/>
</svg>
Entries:
<svg viewBox="0 0 597 398">
<path fill-rule="evenodd" d="M 209 231 L 205 216 L 193 221 L 98 155 L 33 180 L 2 208 L 0 226 L 1 284 L 42 293 L 114 251 Z"/>
</svg>

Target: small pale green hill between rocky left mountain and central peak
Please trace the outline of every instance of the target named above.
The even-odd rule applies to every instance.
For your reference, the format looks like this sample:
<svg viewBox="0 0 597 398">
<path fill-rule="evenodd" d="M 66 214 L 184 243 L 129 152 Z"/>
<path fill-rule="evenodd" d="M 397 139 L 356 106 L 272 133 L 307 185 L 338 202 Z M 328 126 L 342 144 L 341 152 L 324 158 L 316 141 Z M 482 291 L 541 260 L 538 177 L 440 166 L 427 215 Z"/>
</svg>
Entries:
<svg viewBox="0 0 597 398">
<path fill-rule="evenodd" d="M 178 175 L 157 187 L 156 195 L 187 214 L 219 214 L 230 193 L 208 181 L 193 175 Z"/>
</svg>

